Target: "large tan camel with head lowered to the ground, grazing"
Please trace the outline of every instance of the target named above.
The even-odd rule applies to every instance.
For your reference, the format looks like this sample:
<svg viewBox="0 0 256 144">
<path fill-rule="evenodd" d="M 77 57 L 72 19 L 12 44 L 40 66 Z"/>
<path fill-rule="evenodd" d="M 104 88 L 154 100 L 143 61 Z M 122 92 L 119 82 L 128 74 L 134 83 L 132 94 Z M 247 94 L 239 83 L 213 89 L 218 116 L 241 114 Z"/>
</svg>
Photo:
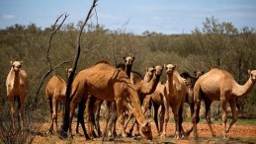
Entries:
<svg viewBox="0 0 256 144">
<path fill-rule="evenodd" d="M 75 77 L 72 84 L 73 98 L 70 103 L 70 133 L 74 109 L 88 94 L 101 100 L 116 102 L 123 137 L 127 136 L 123 113 L 125 108 L 128 108 L 133 111 L 140 125 L 140 134 L 146 139 L 152 139 L 151 126 L 142 113 L 135 87 L 130 83 L 128 75 L 124 71 L 118 70 L 107 61 L 100 61 L 94 66 L 80 71 Z"/>
</svg>

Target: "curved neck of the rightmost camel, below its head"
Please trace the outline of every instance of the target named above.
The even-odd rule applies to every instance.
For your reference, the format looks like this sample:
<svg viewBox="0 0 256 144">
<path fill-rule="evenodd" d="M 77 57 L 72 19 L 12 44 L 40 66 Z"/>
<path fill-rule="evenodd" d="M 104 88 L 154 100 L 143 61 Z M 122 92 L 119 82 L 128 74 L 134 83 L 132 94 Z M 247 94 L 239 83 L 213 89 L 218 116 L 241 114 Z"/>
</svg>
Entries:
<svg viewBox="0 0 256 144">
<path fill-rule="evenodd" d="M 249 78 L 249 80 L 244 85 L 238 85 L 236 83 L 236 88 L 233 89 L 233 94 L 238 98 L 247 96 L 247 94 L 252 90 L 254 84 L 255 82 L 253 82 L 251 78 Z"/>
</svg>

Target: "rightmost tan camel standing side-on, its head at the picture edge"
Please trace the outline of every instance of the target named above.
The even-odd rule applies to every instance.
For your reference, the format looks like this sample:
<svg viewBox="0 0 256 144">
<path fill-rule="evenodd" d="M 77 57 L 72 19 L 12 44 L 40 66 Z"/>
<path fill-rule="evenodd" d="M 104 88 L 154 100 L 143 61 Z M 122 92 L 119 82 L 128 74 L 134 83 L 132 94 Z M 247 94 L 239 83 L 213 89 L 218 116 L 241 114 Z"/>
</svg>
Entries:
<svg viewBox="0 0 256 144">
<path fill-rule="evenodd" d="M 213 136 L 215 136 L 215 134 L 211 124 L 210 108 L 213 101 L 221 102 L 223 122 L 222 135 L 223 137 L 226 136 L 226 133 L 230 130 L 231 126 L 236 122 L 238 118 L 236 110 L 237 99 L 245 97 L 251 91 L 256 82 L 256 70 L 248 70 L 248 73 L 249 79 L 244 85 L 237 84 L 230 73 L 219 68 L 211 69 L 211 71 L 198 79 L 194 87 L 195 113 L 193 116 L 193 129 L 195 139 L 198 138 L 197 123 L 200 120 L 199 111 L 201 100 L 204 100 L 205 102 L 206 119 Z M 232 121 L 226 129 L 227 104 L 230 105 L 232 111 Z"/>
</svg>

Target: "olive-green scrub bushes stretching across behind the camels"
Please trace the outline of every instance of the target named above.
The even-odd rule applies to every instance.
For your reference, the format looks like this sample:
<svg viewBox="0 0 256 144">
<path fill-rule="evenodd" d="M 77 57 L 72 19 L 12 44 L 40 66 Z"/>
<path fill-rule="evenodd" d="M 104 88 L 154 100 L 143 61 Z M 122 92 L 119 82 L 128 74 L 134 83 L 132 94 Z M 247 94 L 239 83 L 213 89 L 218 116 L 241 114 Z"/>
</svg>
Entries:
<svg viewBox="0 0 256 144">
<path fill-rule="evenodd" d="M 51 65 L 74 56 L 79 23 L 64 25 L 53 37 L 49 58 Z M 191 35 L 167 36 L 145 32 L 142 36 L 134 36 L 123 30 L 109 31 L 103 26 L 88 25 L 81 37 L 81 51 L 86 51 L 98 44 L 99 47 L 80 56 L 78 69 L 92 66 L 99 60 L 108 60 L 113 65 L 123 62 L 123 57 L 135 57 L 133 70 L 145 73 L 145 68 L 153 65 L 173 63 L 178 71 L 208 71 L 214 66 L 229 71 L 239 84 L 248 79 L 247 70 L 256 69 L 256 35 L 254 29 L 247 27 L 237 30 L 231 23 L 219 23 L 216 19 L 207 18 L 203 29 L 196 28 Z M 15 25 L 0 31 L 0 95 L 1 103 L 7 101 L 5 80 L 10 70 L 10 60 L 23 60 L 23 68 L 27 71 L 30 85 L 27 103 L 33 104 L 35 93 L 39 88 L 43 74 L 47 71 L 46 50 L 51 28 L 41 30 L 35 24 L 29 26 Z M 59 67 L 53 73 L 66 79 L 65 69 L 72 61 Z M 53 74 L 52 73 L 52 74 Z M 165 81 L 163 73 L 161 81 Z M 48 78 L 45 80 L 45 82 Z M 44 86 L 43 86 L 44 89 Z M 40 93 L 38 108 L 47 108 Z M 256 89 L 241 102 L 242 110 L 251 116 L 255 115 Z M 32 106 L 28 105 L 28 108 Z M 40 110 L 45 111 L 45 110 Z M 28 114 L 28 113 L 26 113 Z M 44 114 L 47 115 L 47 114 Z"/>
</svg>

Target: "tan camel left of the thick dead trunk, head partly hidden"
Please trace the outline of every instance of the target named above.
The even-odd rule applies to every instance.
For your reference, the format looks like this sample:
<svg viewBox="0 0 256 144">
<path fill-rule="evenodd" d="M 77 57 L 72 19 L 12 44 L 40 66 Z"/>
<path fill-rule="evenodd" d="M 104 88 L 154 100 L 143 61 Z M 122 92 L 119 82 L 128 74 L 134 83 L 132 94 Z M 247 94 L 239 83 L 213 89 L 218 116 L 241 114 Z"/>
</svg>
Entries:
<svg viewBox="0 0 256 144">
<path fill-rule="evenodd" d="M 68 77 L 72 69 L 66 69 Z M 50 109 L 51 122 L 47 133 L 53 134 L 53 122 L 55 121 L 55 129 L 58 131 L 57 126 L 57 109 L 58 103 L 65 103 L 66 82 L 59 75 L 53 75 L 45 86 L 45 97 L 48 100 Z"/>
</svg>

